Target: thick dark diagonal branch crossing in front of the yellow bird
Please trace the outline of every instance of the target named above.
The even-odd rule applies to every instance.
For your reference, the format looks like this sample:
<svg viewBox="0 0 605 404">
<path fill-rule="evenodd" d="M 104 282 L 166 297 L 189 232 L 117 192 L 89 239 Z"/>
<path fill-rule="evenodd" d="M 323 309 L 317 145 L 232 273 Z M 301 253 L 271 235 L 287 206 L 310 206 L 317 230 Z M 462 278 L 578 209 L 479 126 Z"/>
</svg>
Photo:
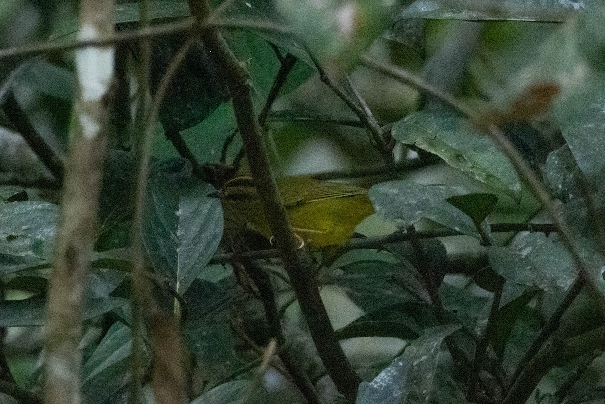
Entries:
<svg viewBox="0 0 605 404">
<path fill-rule="evenodd" d="M 190 0 L 189 7 L 191 13 L 201 20 L 210 13 L 206 0 Z M 264 213 L 278 249 L 281 251 L 284 266 L 298 296 L 301 311 L 309 325 L 319 357 L 338 391 L 351 402 L 355 402 L 361 379 L 351 367 L 336 339 L 330 319 L 319 297 L 318 285 L 310 276 L 309 256 L 304 249 L 298 248 L 298 240 L 290 227 L 286 209 L 270 168 L 263 133 L 254 113 L 247 72 L 231 53 L 216 28 L 208 27 L 202 31 L 202 34 L 210 54 L 214 56 L 219 71 L 224 74 L 225 81 L 229 85 L 250 172 L 257 184 Z"/>
</svg>

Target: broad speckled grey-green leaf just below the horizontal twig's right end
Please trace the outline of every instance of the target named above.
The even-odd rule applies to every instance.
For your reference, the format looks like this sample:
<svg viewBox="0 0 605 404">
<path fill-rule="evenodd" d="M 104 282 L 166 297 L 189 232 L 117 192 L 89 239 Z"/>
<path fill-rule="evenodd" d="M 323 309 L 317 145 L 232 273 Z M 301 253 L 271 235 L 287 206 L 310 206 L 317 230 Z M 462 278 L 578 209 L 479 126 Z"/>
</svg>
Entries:
<svg viewBox="0 0 605 404">
<path fill-rule="evenodd" d="M 567 249 L 555 237 L 540 233 L 530 233 L 509 247 L 488 246 L 488 260 L 506 280 L 549 293 L 567 289 L 577 276 Z"/>
</svg>

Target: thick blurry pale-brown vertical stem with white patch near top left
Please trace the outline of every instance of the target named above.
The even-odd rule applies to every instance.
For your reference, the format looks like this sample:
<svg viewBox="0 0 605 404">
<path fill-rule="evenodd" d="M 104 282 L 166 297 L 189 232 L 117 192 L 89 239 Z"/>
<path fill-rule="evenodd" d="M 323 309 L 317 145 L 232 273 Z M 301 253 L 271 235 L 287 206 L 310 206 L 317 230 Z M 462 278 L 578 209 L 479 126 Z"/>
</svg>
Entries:
<svg viewBox="0 0 605 404">
<path fill-rule="evenodd" d="M 82 0 L 80 40 L 110 37 L 113 0 Z M 65 162 L 64 200 L 48 290 L 45 395 L 48 404 L 79 404 L 83 290 L 96 234 L 97 206 L 111 99 L 114 48 L 77 50 L 77 93 L 70 149 Z M 91 66 L 94 66 L 92 68 Z"/>
</svg>

